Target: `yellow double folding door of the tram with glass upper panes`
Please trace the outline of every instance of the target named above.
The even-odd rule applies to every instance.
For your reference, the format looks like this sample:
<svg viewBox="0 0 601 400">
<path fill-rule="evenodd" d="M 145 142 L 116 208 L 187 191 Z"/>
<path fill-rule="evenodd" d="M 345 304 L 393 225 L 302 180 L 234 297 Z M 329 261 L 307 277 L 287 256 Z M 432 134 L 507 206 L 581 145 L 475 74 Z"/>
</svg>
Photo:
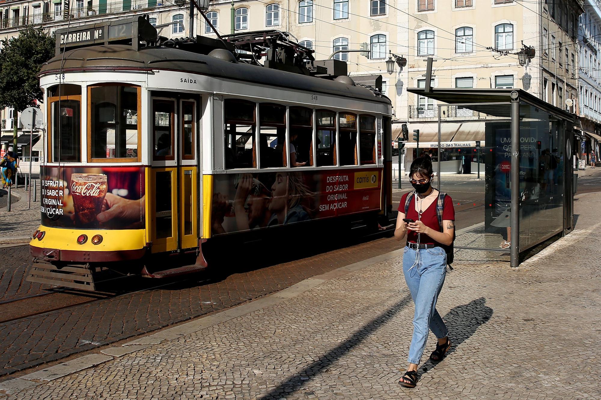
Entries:
<svg viewBox="0 0 601 400">
<path fill-rule="evenodd" d="M 197 101 L 153 97 L 152 252 L 198 246 Z"/>
</svg>

